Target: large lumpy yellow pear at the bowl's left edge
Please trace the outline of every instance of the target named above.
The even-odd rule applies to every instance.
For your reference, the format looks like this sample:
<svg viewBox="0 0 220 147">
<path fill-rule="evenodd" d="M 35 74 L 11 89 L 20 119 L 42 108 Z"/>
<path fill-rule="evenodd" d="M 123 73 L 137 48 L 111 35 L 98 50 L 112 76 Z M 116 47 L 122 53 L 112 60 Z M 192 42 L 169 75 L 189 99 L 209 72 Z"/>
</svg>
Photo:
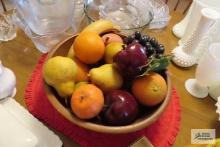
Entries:
<svg viewBox="0 0 220 147">
<path fill-rule="evenodd" d="M 63 98 L 72 95 L 76 73 L 77 65 L 68 57 L 52 57 L 43 66 L 43 78 L 45 82 L 54 87 Z"/>
</svg>

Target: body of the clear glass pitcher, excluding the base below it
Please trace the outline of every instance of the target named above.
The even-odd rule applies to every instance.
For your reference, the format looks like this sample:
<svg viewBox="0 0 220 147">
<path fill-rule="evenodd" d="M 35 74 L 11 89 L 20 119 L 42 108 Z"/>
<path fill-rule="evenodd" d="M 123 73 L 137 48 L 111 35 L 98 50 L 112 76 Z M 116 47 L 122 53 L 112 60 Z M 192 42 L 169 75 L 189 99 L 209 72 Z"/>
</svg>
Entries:
<svg viewBox="0 0 220 147">
<path fill-rule="evenodd" d="M 14 0 L 14 4 L 22 23 L 36 34 L 62 33 L 73 24 L 74 0 Z"/>
</svg>

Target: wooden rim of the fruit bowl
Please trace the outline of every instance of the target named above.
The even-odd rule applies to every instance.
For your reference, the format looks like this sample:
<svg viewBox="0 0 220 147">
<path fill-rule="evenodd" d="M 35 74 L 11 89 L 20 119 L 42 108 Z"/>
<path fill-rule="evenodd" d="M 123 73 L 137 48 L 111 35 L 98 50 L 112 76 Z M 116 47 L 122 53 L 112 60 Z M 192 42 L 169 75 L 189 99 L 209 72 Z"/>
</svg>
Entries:
<svg viewBox="0 0 220 147">
<path fill-rule="evenodd" d="M 77 35 L 71 36 L 66 38 L 65 40 L 61 41 L 59 44 L 57 44 L 54 49 L 51 50 L 51 52 L 48 54 L 47 59 L 51 58 L 53 56 L 53 54 L 62 46 L 62 44 L 64 44 L 65 42 L 67 42 L 68 40 L 74 39 L 74 37 L 76 37 Z M 141 130 L 147 126 L 149 126 L 150 124 L 152 124 L 153 122 L 155 122 L 160 115 L 162 114 L 162 112 L 165 110 L 165 108 L 167 107 L 170 99 L 171 99 L 171 91 L 172 91 L 172 85 L 171 85 L 171 80 L 170 80 L 170 76 L 169 73 L 166 72 L 167 75 L 167 95 L 165 97 L 165 99 L 163 100 L 163 102 L 160 104 L 160 106 L 157 108 L 157 110 L 155 110 L 155 112 L 153 112 L 149 117 L 141 120 L 141 121 L 135 121 L 134 123 L 130 124 L 130 125 L 126 125 L 126 126 L 105 126 L 105 125 L 101 125 L 101 124 L 95 124 L 89 121 L 84 121 L 81 120 L 77 117 L 75 117 L 67 108 L 65 108 L 55 97 L 55 95 L 53 94 L 53 92 L 51 91 L 50 87 L 45 83 L 45 92 L 47 94 L 48 100 L 49 102 L 52 104 L 52 106 L 63 116 L 65 117 L 67 120 L 69 120 L 70 122 L 74 123 L 75 125 L 91 130 L 91 131 L 95 131 L 95 132 L 100 132 L 100 133 L 110 133 L 110 134 L 123 134 L 123 133 L 131 133 L 131 132 L 135 132 L 138 130 Z"/>
</svg>

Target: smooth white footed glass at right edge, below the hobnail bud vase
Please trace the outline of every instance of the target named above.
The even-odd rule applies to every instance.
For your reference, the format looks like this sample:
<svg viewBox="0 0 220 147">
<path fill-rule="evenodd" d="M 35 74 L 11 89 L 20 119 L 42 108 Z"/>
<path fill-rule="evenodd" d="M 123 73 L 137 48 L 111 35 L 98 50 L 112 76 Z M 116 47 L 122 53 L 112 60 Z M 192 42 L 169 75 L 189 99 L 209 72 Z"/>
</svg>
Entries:
<svg viewBox="0 0 220 147">
<path fill-rule="evenodd" d="M 220 43 L 213 43 L 199 61 L 195 79 L 185 82 L 186 90 L 197 98 L 208 95 L 208 87 L 220 83 Z"/>
</svg>

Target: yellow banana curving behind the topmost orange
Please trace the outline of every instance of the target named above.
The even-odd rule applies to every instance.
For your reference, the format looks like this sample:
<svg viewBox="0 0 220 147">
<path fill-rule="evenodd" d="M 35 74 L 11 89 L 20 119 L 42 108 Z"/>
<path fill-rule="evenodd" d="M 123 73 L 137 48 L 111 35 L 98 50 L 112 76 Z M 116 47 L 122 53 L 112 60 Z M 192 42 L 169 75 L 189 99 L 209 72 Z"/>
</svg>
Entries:
<svg viewBox="0 0 220 147">
<path fill-rule="evenodd" d="M 88 25 L 85 29 L 83 29 L 82 32 L 90 31 L 90 32 L 96 32 L 98 34 L 102 34 L 109 30 L 120 31 L 120 26 L 112 23 L 109 20 L 100 19 Z"/>
</svg>

